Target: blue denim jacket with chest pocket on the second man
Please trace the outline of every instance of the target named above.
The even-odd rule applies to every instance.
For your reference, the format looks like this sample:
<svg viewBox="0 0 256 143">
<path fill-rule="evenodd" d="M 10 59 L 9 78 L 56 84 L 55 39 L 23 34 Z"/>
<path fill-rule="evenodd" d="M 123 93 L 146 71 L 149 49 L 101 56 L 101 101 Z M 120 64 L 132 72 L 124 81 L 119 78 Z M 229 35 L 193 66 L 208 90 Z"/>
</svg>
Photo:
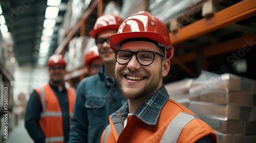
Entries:
<svg viewBox="0 0 256 143">
<path fill-rule="evenodd" d="M 98 74 L 84 78 L 77 87 L 69 142 L 100 142 L 109 115 L 126 102 L 102 65 Z"/>
</svg>

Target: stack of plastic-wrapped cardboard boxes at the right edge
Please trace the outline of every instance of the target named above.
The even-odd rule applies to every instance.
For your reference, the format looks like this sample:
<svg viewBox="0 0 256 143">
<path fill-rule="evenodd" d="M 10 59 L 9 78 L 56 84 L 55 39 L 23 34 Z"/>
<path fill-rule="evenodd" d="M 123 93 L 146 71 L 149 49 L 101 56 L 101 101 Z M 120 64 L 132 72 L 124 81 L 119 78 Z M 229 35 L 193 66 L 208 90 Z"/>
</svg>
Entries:
<svg viewBox="0 0 256 143">
<path fill-rule="evenodd" d="M 216 131 L 218 142 L 255 142 L 255 83 L 203 71 L 189 89 L 189 109 Z"/>
</svg>

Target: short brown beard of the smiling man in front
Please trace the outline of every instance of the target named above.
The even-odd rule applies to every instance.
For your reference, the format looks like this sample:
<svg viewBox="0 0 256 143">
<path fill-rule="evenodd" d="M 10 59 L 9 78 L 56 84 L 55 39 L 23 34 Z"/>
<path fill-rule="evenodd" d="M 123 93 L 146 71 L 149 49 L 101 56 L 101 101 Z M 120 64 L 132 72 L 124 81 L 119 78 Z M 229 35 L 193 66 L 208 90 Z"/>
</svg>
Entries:
<svg viewBox="0 0 256 143">
<path fill-rule="evenodd" d="M 160 70 L 161 71 L 161 70 Z M 117 80 L 117 84 L 121 89 L 121 92 L 123 93 L 123 96 L 127 99 L 130 100 L 137 100 L 140 99 L 142 97 L 145 96 L 152 96 L 152 94 L 154 92 L 156 92 L 160 79 L 161 79 L 161 72 L 158 72 L 155 76 L 153 76 L 153 80 L 150 81 L 149 83 L 143 85 L 139 90 L 124 90 L 124 88 L 122 87 L 122 83 L 121 83 L 121 79 L 120 78 L 116 78 Z M 119 73 L 120 74 L 120 73 Z M 119 75 L 119 77 L 122 76 L 121 74 Z M 130 87 L 132 86 L 136 86 L 136 85 L 128 85 Z"/>
</svg>

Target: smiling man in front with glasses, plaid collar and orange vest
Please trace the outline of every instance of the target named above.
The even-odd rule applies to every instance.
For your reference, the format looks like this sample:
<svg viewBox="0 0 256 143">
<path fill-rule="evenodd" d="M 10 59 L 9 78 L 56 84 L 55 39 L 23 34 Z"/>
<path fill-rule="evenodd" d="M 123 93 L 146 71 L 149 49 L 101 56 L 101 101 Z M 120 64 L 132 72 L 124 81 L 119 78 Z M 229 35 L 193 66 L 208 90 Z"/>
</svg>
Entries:
<svg viewBox="0 0 256 143">
<path fill-rule="evenodd" d="M 214 130 L 170 100 L 162 84 L 174 47 L 160 19 L 146 11 L 130 16 L 110 45 L 117 83 L 128 102 L 111 114 L 101 142 L 216 142 Z"/>
</svg>

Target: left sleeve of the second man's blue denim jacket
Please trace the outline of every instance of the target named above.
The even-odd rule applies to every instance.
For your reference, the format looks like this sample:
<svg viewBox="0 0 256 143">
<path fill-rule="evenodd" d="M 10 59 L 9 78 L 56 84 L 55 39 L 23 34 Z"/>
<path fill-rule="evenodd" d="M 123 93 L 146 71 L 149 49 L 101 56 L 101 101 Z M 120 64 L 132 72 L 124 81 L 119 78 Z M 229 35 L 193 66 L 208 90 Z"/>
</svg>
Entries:
<svg viewBox="0 0 256 143">
<path fill-rule="evenodd" d="M 84 107 L 86 102 L 83 82 L 78 85 L 73 117 L 69 133 L 69 142 L 88 142 L 88 118 Z"/>
</svg>

